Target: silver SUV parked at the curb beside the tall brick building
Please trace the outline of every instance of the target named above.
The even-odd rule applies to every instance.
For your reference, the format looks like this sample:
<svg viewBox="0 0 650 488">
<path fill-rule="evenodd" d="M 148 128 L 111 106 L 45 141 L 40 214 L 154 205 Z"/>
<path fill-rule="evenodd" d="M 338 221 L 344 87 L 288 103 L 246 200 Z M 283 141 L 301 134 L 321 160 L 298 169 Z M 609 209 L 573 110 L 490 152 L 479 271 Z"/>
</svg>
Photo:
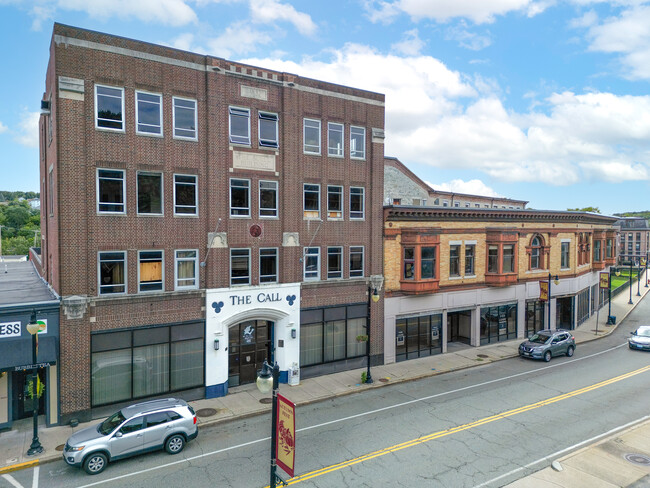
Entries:
<svg viewBox="0 0 650 488">
<path fill-rule="evenodd" d="M 83 466 L 88 474 L 98 474 L 110 461 L 135 454 L 163 448 L 178 454 L 198 433 L 196 414 L 185 400 L 152 400 L 75 432 L 65 443 L 63 459 L 70 466 Z"/>
</svg>

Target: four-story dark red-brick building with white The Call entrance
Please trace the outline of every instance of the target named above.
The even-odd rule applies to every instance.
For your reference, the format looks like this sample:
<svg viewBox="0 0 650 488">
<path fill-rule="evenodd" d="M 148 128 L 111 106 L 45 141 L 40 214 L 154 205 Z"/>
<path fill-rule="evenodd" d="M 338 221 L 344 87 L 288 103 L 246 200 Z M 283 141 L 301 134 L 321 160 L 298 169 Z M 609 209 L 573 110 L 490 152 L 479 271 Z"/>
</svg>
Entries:
<svg viewBox="0 0 650 488">
<path fill-rule="evenodd" d="M 55 24 L 43 108 L 62 422 L 365 364 L 384 95 Z"/>
</svg>

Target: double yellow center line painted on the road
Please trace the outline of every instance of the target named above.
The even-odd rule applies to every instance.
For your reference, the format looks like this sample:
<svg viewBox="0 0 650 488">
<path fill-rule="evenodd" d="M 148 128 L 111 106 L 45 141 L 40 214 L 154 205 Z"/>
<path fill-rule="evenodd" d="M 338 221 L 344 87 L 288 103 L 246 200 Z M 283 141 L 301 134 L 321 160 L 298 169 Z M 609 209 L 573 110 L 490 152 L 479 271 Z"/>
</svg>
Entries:
<svg viewBox="0 0 650 488">
<path fill-rule="evenodd" d="M 291 478 L 290 480 L 287 481 L 287 484 L 289 485 L 295 485 L 296 483 L 300 483 L 301 481 L 306 481 L 312 478 L 316 478 L 318 476 L 322 476 L 328 473 L 332 473 L 334 471 L 338 471 L 340 469 L 346 468 L 348 466 L 353 466 L 355 464 L 362 463 L 364 461 L 369 461 L 371 459 L 375 459 L 381 456 L 384 456 L 386 454 L 390 454 L 393 452 L 401 451 L 402 449 L 406 449 L 407 447 L 413 447 L 417 446 L 420 444 L 424 444 L 426 442 L 435 440 L 435 439 L 440 439 L 441 437 L 446 437 L 451 434 L 456 434 L 458 432 L 462 432 L 464 430 L 469 430 L 474 427 L 479 427 L 481 425 L 489 424 L 491 422 L 495 422 L 497 420 L 505 419 L 507 417 L 512 417 L 513 415 L 518 415 L 520 413 L 525 413 L 525 412 L 530 412 L 531 410 L 535 410 L 541 407 L 545 407 L 547 405 L 551 405 L 556 402 L 560 402 L 562 400 L 567 400 L 569 398 L 576 397 L 578 395 L 582 395 L 584 393 L 588 393 L 593 390 L 597 390 L 598 388 L 603 388 L 604 386 L 611 385 L 613 383 L 617 383 L 619 381 L 625 380 L 627 378 L 631 378 L 632 376 L 636 376 L 641 373 L 645 373 L 646 371 L 650 370 L 650 365 L 645 366 L 641 369 L 637 369 L 635 371 L 631 371 L 629 373 L 622 374 L 620 376 L 616 376 L 615 378 L 611 378 L 609 380 L 601 381 L 600 383 L 595 383 L 593 385 L 585 386 L 584 388 L 580 388 L 578 390 L 571 391 L 569 393 L 564 393 L 562 395 L 558 395 L 555 397 L 547 398 L 546 400 L 542 400 L 536 403 L 531 403 L 529 405 L 524 405 L 523 407 L 515 408 L 512 410 L 508 410 L 506 412 L 498 413 L 496 415 L 492 415 L 490 417 L 485 417 L 479 420 L 475 420 L 474 422 L 470 422 L 467 424 L 459 425 L 457 427 L 451 427 L 449 429 L 441 430 L 438 432 L 434 432 L 432 434 L 428 434 L 423 437 L 418 437 L 417 439 L 411 439 L 406 442 L 402 442 L 400 444 L 395 444 L 390 447 L 385 447 L 383 449 L 379 449 L 378 451 L 373 451 L 368 454 L 364 454 L 363 456 L 359 456 L 354 459 L 349 459 L 348 461 L 344 461 L 342 463 L 338 464 L 332 464 L 330 466 L 317 469 L 315 471 L 311 471 L 309 473 L 302 474 L 300 476 L 296 476 L 294 478 Z M 268 487 L 267 487 L 268 488 Z"/>
</svg>

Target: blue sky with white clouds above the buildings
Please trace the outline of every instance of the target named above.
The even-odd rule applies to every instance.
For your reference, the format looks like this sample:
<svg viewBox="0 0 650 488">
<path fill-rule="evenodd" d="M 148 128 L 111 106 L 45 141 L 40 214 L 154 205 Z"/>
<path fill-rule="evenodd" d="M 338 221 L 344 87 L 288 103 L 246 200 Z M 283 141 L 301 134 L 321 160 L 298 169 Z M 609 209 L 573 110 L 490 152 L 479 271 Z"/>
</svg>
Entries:
<svg viewBox="0 0 650 488">
<path fill-rule="evenodd" d="M 0 190 L 39 190 L 55 21 L 384 93 L 436 188 L 650 209 L 650 0 L 0 0 Z"/>
</svg>

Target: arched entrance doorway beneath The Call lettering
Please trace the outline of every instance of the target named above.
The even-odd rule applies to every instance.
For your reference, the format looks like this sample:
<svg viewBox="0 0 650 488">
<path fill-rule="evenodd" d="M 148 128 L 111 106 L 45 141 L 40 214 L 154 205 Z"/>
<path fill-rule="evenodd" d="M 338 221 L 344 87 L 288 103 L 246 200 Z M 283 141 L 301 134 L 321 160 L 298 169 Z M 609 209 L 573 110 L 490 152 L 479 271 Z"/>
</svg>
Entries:
<svg viewBox="0 0 650 488">
<path fill-rule="evenodd" d="M 234 325 L 228 338 L 228 386 L 254 383 L 264 360 L 273 364 L 271 343 L 274 322 L 247 320 Z"/>
</svg>

